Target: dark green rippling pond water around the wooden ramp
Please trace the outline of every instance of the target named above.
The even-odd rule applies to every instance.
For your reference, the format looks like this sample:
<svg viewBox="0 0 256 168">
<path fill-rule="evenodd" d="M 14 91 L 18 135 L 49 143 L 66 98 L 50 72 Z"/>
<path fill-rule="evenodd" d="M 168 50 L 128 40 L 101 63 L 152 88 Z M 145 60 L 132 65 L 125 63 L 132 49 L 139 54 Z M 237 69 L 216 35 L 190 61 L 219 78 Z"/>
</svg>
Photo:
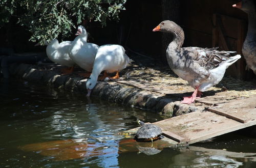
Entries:
<svg viewBox="0 0 256 168">
<path fill-rule="evenodd" d="M 120 152 L 123 135 L 118 133 L 137 127 L 137 118 L 163 118 L 14 79 L 1 80 L 0 100 L 0 167 L 256 167 L 256 139 L 241 133 L 155 155 Z M 61 145 L 65 141 L 78 145 Z M 71 157 L 82 148 L 91 152 Z"/>
</svg>

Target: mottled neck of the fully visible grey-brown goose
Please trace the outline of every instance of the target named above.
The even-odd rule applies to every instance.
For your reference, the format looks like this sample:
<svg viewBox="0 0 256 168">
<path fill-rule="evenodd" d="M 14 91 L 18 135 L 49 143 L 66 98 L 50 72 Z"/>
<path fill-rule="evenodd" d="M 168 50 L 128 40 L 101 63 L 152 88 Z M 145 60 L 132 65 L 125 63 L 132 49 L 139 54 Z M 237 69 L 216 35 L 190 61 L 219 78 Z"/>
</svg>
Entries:
<svg viewBox="0 0 256 168">
<path fill-rule="evenodd" d="M 167 50 L 179 51 L 184 42 L 184 32 L 181 27 L 169 31 L 173 35 L 173 41 L 168 45 Z"/>
</svg>

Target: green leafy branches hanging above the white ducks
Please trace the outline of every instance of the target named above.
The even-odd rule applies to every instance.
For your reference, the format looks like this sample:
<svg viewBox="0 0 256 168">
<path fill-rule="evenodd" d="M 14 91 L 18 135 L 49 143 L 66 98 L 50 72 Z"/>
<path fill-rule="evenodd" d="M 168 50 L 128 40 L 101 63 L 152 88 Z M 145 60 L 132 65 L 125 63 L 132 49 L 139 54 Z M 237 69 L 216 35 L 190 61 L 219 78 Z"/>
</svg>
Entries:
<svg viewBox="0 0 256 168">
<path fill-rule="evenodd" d="M 126 0 L 1 0 L 0 27 L 16 17 L 20 25 L 32 34 L 30 40 L 40 44 L 61 35 L 68 37 L 72 26 L 82 19 L 100 21 L 118 20 Z"/>
</svg>

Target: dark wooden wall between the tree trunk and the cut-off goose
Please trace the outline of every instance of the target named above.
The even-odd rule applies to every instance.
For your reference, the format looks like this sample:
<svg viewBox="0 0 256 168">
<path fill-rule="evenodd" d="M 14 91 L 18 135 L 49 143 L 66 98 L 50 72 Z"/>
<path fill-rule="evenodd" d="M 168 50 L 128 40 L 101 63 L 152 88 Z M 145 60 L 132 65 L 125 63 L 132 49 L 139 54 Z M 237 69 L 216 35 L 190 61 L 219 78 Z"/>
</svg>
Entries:
<svg viewBox="0 0 256 168">
<path fill-rule="evenodd" d="M 185 46 L 219 47 L 237 51 L 242 46 L 247 31 L 247 14 L 232 8 L 236 0 L 181 1 L 181 26 L 185 31 Z M 230 66 L 226 74 L 245 79 L 245 60 L 242 57 Z"/>
</svg>

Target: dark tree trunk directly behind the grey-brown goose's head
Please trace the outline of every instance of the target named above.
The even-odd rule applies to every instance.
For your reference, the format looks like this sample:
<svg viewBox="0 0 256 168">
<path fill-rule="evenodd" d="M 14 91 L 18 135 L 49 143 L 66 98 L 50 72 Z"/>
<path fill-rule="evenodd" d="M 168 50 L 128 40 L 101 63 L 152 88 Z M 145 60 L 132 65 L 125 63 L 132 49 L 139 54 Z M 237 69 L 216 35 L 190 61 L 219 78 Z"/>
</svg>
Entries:
<svg viewBox="0 0 256 168">
<path fill-rule="evenodd" d="M 172 20 L 177 24 L 180 23 L 180 0 L 162 0 L 162 20 Z M 169 33 L 162 33 L 162 54 L 161 60 L 167 63 L 166 48 L 172 41 L 173 37 Z"/>
</svg>

